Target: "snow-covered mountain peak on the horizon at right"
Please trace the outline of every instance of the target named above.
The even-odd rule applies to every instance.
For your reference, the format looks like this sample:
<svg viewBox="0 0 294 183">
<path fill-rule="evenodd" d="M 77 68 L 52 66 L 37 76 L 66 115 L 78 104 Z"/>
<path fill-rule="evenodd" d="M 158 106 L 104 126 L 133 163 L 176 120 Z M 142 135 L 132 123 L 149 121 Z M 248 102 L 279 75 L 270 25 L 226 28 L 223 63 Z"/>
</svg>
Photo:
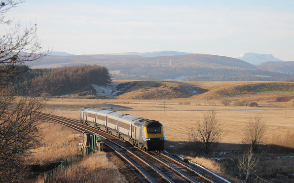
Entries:
<svg viewBox="0 0 294 183">
<path fill-rule="evenodd" d="M 237 59 L 244 60 L 252 65 L 259 65 L 266 61 L 284 61 L 275 58 L 272 54 L 260 54 L 260 53 L 243 53 L 236 57 Z"/>
</svg>

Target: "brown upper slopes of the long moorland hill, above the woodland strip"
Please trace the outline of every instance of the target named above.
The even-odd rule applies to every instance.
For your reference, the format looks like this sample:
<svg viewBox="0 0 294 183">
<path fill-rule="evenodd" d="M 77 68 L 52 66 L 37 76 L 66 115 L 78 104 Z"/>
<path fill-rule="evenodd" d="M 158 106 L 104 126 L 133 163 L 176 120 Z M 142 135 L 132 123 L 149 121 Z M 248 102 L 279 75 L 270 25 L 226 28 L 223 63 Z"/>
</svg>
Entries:
<svg viewBox="0 0 294 183">
<path fill-rule="evenodd" d="M 69 56 L 47 56 L 39 62 L 27 63 L 32 68 L 55 68 L 65 65 L 97 64 L 104 65 L 118 70 L 122 66 L 191 66 L 191 67 L 210 67 L 210 68 L 246 68 L 258 69 L 243 60 L 236 58 L 205 55 L 205 54 L 186 54 L 173 56 L 154 56 L 142 57 L 138 55 L 69 55 Z"/>
</svg>

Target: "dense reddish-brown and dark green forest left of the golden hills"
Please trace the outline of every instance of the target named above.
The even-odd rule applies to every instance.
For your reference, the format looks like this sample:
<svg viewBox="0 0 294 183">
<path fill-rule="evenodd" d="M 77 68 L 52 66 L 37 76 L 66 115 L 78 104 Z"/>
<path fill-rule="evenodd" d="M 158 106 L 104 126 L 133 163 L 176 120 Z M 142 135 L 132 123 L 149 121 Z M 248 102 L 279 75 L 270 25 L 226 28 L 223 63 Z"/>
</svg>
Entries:
<svg viewBox="0 0 294 183">
<path fill-rule="evenodd" d="M 23 66 L 27 67 L 27 66 Z M 65 66 L 54 69 L 30 69 L 13 84 L 20 96 L 62 95 L 88 85 L 112 82 L 108 69 L 98 65 Z"/>
</svg>

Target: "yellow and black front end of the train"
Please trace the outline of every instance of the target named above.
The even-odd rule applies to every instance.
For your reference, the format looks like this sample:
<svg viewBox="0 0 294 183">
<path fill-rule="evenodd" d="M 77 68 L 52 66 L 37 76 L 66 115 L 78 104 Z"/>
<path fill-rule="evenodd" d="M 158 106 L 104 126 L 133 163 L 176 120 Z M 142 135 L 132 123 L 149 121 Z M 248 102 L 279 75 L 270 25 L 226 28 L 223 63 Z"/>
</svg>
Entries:
<svg viewBox="0 0 294 183">
<path fill-rule="evenodd" d="M 148 121 L 142 125 L 143 144 L 147 150 L 163 150 L 164 128 L 158 121 Z"/>
</svg>

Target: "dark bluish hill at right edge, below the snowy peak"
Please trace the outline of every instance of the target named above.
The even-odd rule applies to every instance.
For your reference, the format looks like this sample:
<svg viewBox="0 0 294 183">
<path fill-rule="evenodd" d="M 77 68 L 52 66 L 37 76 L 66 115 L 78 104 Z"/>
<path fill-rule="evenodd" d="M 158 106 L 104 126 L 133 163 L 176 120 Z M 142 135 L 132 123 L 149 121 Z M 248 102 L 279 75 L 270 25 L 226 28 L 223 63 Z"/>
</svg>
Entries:
<svg viewBox="0 0 294 183">
<path fill-rule="evenodd" d="M 268 61 L 256 65 L 256 67 L 275 72 L 294 73 L 294 61 Z"/>
</svg>

